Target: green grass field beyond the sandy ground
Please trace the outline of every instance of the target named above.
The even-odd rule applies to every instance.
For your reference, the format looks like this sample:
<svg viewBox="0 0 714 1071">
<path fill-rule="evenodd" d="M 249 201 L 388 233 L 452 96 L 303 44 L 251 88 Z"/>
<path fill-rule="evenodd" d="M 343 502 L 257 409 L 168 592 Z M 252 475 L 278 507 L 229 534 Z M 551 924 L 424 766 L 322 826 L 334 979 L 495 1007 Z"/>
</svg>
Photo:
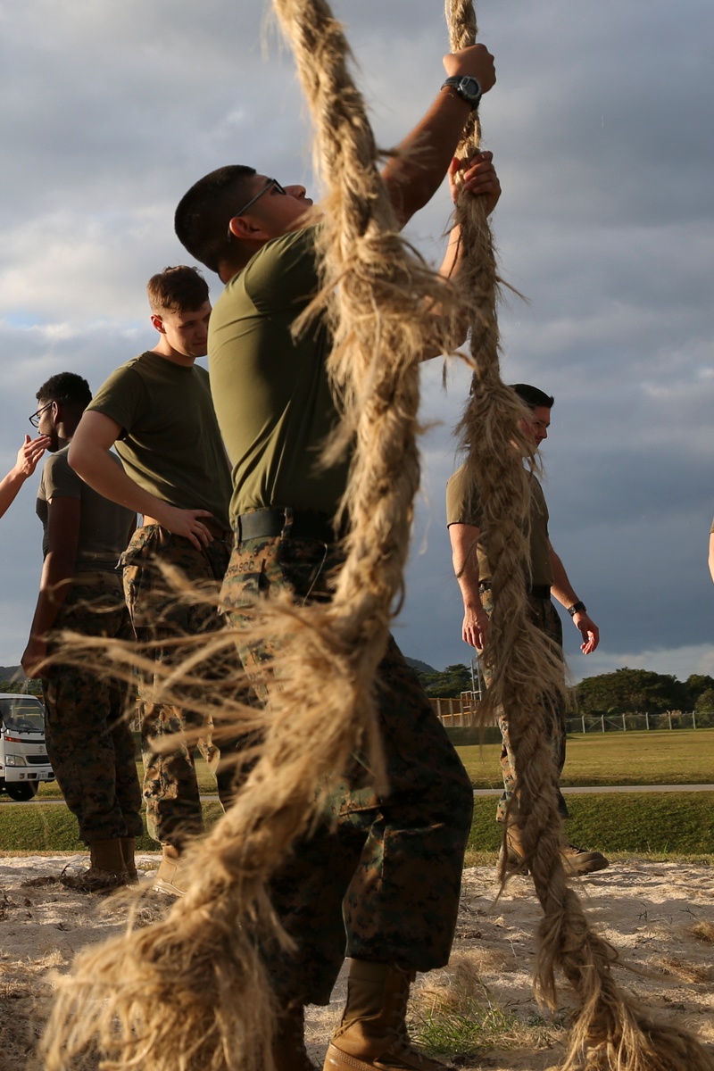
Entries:
<svg viewBox="0 0 714 1071">
<path fill-rule="evenodd" d="M 500 788 L 498 744 L 459 746 L 476 788 Z M 203 795 L 215 780 L 197 763 Z M 567 799 L 567 836 L 574 844 L 611 854 L 654 854 L 658 858 L 701 858 L 714 862 L 714 729 L 607 733 L 568 737 L 565 786 L 632 785 L 632 793 L 578 795 Z M 139 765 L 139 775 L 141 767 Z M 637 785 L 712 784 L 703 793 L 637 793 Z M 39 799 L 60 798 L 56 783 L 43 785 Z M 221 814 L 204 805 L 209 824 Z M 499 847 L 496 800 L 477 797 L 467 863 L 492 861 Z M 145 851 L 157 845 L 145 835 Z M 81 851 L 74 817 L 61 806 L 3 804 L 0 851 Z"/>
</svg>

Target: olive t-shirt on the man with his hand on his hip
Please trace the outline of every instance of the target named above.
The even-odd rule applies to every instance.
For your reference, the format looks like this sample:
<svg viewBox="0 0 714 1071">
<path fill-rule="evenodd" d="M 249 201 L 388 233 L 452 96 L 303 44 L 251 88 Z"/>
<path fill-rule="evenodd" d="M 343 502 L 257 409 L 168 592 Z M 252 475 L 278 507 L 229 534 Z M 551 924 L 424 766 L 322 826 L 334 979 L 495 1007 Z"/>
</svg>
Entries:
<svg viewBox="0 0 714 1071">
<path fill-rule="evenodd" d="M 140 487 L 230 527 L 230 472 L 206 368 L 149 350 L 117 368 L 87 408 L 121 426 L 117 453 Z"/>
</svg>

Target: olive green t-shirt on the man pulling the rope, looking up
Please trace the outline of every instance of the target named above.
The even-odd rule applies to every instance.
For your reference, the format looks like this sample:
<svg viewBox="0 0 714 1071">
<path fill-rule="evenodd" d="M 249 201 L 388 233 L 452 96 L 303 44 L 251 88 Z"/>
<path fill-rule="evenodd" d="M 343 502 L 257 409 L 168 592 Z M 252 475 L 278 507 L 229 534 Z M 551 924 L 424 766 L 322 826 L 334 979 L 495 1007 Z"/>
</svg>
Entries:
<svg viewBox="0 0 714 1071">
<path fill-rule="evenodd" d="M 347 463 L 318 469 L 338 416 L 321 318 L 293 338 L 293 320 L 318 289 L 315 230 L 264 245 L 226 286 L 209 327 L 211 390 L 233 466 L 231 521 L 261 507 L 334 516 Z"/>
</svg>

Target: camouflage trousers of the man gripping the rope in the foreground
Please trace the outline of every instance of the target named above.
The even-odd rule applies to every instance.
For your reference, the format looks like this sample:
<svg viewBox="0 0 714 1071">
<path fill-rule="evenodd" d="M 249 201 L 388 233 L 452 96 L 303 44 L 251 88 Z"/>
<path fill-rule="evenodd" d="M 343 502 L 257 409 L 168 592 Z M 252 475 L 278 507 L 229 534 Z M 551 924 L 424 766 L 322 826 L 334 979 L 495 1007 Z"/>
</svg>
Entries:
<svg viewBox="0 0 714 1071">
<path fill-rule="evenodd" d="M 258 594 L 328 600 L 333 547 L 278 537 L 240 543 L 222 590 L 231 623 Z M 239 647 L 258 695 L 279 687 L 275 645 Z M 473 791 L 415 674 L 393 639 L 376 695 L 390 793 L 379 797 L 353 756 L 317 830 L 299 841 L 272 884 L 297 952 L 264 949 L 283 1000 L 328 1004 L 345 955 L 443 966 L 454 937 Z"/>
</svg>

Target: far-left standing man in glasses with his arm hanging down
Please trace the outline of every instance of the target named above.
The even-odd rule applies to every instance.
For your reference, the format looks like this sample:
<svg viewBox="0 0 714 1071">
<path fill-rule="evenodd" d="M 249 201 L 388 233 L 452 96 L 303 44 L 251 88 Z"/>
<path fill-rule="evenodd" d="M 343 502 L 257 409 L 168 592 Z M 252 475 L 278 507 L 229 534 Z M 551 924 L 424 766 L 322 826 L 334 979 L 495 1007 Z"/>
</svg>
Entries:
<svg viewBox="0 0 714 1071">
<path fill-rule="evenodd" d="M 35 414 L 48 437 L 37 494 L 44 565 L 30 639 L 28 677 L 43 676 L 47 753 L 66 805 L 89 845 L 91 865 L 65 885 L 104 891 L 136 880 L 135 840 L 143 830 L 126 688 L 82 665 L 43 663 L 57 650 L 52 633 L 125 638 L 128 616 L 117 562 L 136 515 L 82 483 L 67 462 L 70 442 L 91 401 L 86 379 L 52 376 L 37 391 Z M 109 464 L 121 469 L 115 457 Z"/>
</svg>

